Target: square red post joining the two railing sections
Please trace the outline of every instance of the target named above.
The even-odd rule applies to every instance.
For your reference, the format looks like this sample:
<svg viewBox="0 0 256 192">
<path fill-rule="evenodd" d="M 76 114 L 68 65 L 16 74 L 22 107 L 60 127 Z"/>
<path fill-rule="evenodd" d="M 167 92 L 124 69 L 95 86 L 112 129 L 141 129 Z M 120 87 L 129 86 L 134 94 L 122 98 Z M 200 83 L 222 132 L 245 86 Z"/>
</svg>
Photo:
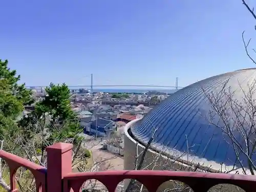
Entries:
<svg viewBox="0 0 256 192">
<path fill-rule="evenodd" d="M 47 152 L 47 191 L 61 192 L 62 179 L 72 172 L 72 147 L 70 143 L 54 143 Z"/>
</svg>

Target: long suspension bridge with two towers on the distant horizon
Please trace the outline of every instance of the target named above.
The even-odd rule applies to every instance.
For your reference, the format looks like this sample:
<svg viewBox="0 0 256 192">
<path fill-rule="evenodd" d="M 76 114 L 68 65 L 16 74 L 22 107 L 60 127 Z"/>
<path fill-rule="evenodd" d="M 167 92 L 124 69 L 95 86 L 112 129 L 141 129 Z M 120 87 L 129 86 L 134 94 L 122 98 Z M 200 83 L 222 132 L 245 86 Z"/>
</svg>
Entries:
<svg viewBox="0 0 256 192">
<path fill-rule="evenodd" d="M 44 88 L 46 86 L 26 86 L 27 88 Z M 116 88 L 116 87 L 133 87 L 133 88 L 170 88 L 170 89 L 181 89 L 178 86 L 178 77 L 176 77 L 175 86 L 160 86 L 157 84 L 93 84 L 93 74 L 91 74 L 91 84 L 79 85 L 79 86 L 69 86 L 70 88 Z"/>
</svg>

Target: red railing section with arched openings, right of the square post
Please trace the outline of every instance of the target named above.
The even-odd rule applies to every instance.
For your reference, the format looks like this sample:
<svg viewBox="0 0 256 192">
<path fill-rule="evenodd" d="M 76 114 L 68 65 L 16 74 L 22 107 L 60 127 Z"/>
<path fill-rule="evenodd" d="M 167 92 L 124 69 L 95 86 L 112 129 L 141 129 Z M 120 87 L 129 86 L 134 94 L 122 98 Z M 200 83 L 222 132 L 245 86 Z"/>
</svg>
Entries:
<svg viewBox="0 0 256 192">
<path fill-rule="evenodd" d="M 169 180 L 181 181 L 191 187 L 194 192 L 208 191 L 218 184 L 233 184 L 245 191 L 254 191 L 256 189 L 255 176 L 161 170 L 109 170 L 70 173 L 63 178 L 65 185 L 63 192 L 69 192 L 71 188 L 74 192 L 78 192 L 82 184 L 89 179 L 100 181 L 110 192 L 114 192 L 118 183 L 124 179 L 136 179 L 150 192 L 156 191 L 162 183 Z"/>
</svg>

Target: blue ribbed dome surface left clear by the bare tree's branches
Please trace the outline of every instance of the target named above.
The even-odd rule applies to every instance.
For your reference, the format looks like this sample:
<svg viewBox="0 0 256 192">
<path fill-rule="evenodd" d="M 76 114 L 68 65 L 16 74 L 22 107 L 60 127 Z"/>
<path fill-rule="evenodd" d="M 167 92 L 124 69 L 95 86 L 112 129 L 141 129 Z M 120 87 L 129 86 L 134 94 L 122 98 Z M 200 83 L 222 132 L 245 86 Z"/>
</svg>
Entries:
<svg viewBox="0 0 256 192">
<path fill-rule="evenodd" d="M 188 143 L 190 155 L 225 165 L 236 163 L 240 167 L 233 147 L 229 144 L 229 137 L 203 117 L 203 114 L 207 115 L 210 110 L 212 111 L 206 95 L 218 93 L 228 80 L 227 87 L 235 91 L 234 97 L 238 101 L 243 102 L 243 91 L 247 93 L 248 84 L 255 82 L 255 79 L 256 69 L 245 69 L 191 84 L 170 95 L 144 118 L 134 123 L 131 126 L 132 134 L 145 144 L 151 138 L 154 126 L 157 131 L 152 147 L 156 150 L 166 147 L 187 152 Z M 219 116 L 216 116 L 214 121 L 218 126 L 223 126 Z M 230 120 L 229 122 L 232 123 Z M 241 133 L 234 134 L 240 139 L 239 142 L 243 142 Z M 240 159 L 244 166 L 247 166 L 245 155 L 240 155 Z M 256 157 L 252 159 L 256 160 Z"/>
</svg>

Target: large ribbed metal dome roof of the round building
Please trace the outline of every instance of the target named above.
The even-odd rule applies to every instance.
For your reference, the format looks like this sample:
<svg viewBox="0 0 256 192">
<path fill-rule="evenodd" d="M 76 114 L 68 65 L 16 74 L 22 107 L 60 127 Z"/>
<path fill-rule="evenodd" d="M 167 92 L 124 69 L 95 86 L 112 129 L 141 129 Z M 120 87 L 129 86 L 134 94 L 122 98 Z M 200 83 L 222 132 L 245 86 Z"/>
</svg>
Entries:
<svg viewBox="0 0 256 192">
<path fill-rule="evenodd" d="M 248 131 L 236 131 L 232 137 L 225 134 L 219 127 L 225 127 L 226 124 L 233 127 L 238 126 L 237 117 L 231 115 L 224 121 L 223 116 L 215 113 L 207 95 L 210 95 L 211 102 L 215 104 L 218 102 L 218 105 L 222 105 L 218 109 L 224 110 L 223 114 L 236 114 L 235 111 L 239 109 L 230 105 L 233 101 L 225 100 L 225 103 L 223 100 L 224 97 L 226 98 L 226 96 L 222 96 L 224 94 L 221 94 L 223 84 L 226 83 L 226 92 L 232 93 L 231 99 L 236 100 L 236 103 L 241 103 L 239 106 L 244 107 L 246 106 L 245 98 L 251 93 L 249 86 L 253 86 L 255 78 L 256 70 L 253 68 L 220 74 L 190 84 L 170 95 L 143 119 L 133 124 L 131 132 L 138 141 L 145 145 L 152 136 L 153 128 L 157 127 L 151 145 L 155 151 L 159 152 L 164 149 L 166 154 L 179 154 L 177 156 L 188 152 L 189 158 L 184 155 L 184 160 L 204 162 L 216 170 L 221 169 L 224 165 L 228 167 L 227 169 L 232 169 L 234 165 L 241 168 L 239 162 L 243 162 L 243 166 L 248 168 L 247 156 L 239 152 L 238 161 L 237 151 L 230 144 L 232 137 L 238 143 L 244 143 L 244 133 L 247 134 Z M 218 96 L 211 95 L 212 93 L 216 93 Z M 214 97 L 219 100 L 217 101 Z M 251 94 L 251 102 L 254 99 L 256 99 L 256 95 Z M 242 126 L 244 130 L 249 130 L 250 126 L 247 125 L 250 119 L 250 116 L 247 115 L 249 113 L 245 113 L 244 120 L 238 127 Z M 245 144 L 239 146 L 244 148 Z M 251 155 L 251 159 L 256 160 L 254 153 Z M 239 171 L 241 173 L 243 170 L 239 169 Z"/>
</svg>

